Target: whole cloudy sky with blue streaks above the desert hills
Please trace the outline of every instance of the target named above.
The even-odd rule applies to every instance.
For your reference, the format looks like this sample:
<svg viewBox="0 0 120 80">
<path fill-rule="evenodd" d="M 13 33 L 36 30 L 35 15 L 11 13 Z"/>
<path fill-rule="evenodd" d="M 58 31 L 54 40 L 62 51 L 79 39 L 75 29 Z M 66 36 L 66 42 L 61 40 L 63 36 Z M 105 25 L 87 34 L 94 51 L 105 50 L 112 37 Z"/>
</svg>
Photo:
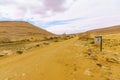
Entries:
<svg viewBox="0 0 120 80">
<path fill-rule="evenodd" d="M 27 21 L 55 34 L 120 25 L 120 0 L 0 0 L 0 21 Z"/>
</svg>

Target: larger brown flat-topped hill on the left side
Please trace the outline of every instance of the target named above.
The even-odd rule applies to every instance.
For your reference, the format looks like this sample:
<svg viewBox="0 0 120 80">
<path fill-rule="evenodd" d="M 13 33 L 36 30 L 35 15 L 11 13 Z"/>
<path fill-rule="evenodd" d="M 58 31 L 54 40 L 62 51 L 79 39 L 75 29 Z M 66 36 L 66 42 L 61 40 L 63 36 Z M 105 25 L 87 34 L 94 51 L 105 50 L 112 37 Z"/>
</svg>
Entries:
<svg viewBox="0 0 120 80">
<path fill-rule="evenodd" d="M 32 36 L 50 36 L 52 33 L 24 21 L 0 21 L 0 40 L 20 39 Z"/>
</svg>

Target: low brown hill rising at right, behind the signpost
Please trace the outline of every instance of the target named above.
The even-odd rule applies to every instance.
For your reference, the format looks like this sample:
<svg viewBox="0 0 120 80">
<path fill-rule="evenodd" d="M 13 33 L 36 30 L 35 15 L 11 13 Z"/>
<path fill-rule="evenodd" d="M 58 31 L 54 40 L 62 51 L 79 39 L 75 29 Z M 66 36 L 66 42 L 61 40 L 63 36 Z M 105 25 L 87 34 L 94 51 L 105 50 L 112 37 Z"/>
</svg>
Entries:
<svg viewBox="0 0 120 80">
<path fill-rule="evenodd" d="M 92 34 L 117 34 L 117 33 L 120 33 L 120 25 L 90 30 L 87 32 Z"/>
</svg>

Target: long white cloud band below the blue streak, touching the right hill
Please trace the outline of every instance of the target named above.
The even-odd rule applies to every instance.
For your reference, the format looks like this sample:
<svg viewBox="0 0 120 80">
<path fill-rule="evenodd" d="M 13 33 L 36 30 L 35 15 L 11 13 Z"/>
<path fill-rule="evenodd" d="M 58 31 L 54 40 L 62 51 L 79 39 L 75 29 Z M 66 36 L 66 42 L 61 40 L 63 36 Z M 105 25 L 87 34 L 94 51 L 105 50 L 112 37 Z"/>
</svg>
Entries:
<svg viewBox="0 0 120 80">
<path fill-rule="evenodd" d="M 46 27 L 45 29 L 55 34 L 71 34 L 119 24 L 120 16 L 106 16 L 75 20 L 73 22 L 69 22 L 69 24 L 54 25 L 51 27 Z"/>
</svg>

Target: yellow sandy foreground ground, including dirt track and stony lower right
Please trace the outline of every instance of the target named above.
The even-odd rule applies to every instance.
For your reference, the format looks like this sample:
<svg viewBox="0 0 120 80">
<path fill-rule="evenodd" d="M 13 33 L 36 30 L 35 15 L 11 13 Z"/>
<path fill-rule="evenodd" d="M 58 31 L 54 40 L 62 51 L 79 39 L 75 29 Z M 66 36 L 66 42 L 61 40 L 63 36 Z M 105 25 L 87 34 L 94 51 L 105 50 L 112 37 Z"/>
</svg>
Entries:
<svg viewBox="0 0 120 80">
<path fill-rule="evenodd" d="M 0 80 L 120 80 L 120 64 L 84 54 L 78 38 L 0 60 Z"/>
</svg>

